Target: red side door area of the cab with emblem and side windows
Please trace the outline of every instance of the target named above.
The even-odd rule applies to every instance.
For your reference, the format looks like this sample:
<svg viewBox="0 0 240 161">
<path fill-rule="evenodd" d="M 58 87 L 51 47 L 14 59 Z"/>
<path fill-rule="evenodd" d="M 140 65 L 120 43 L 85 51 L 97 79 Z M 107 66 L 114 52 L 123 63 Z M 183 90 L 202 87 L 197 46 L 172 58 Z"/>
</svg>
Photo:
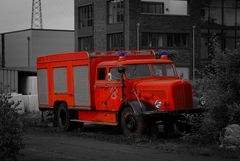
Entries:
<svg viewBox="0 0 240 161">
<path fill-rule="evenodd" d="M 101 67 L 97 69 L 95 83 L 96 110 L 118 111 L 121 104 L 121 81 L 117 68 Z"/>
</svg>

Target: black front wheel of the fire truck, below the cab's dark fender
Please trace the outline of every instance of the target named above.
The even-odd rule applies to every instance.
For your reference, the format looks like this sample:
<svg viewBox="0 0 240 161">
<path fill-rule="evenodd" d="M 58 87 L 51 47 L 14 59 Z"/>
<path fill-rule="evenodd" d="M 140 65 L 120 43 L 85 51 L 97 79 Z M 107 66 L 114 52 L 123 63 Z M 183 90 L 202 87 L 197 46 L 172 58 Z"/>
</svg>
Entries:
<svg viewBox="0 0 240 161">
<path fill-rule="evenodd" d="M 121 115 L 121 128 L 127 136 L 141 135 L 146 129 L 146 124 L 141 115 L 136 115 L 131 107 L 126 107 Z"/>
</svg>

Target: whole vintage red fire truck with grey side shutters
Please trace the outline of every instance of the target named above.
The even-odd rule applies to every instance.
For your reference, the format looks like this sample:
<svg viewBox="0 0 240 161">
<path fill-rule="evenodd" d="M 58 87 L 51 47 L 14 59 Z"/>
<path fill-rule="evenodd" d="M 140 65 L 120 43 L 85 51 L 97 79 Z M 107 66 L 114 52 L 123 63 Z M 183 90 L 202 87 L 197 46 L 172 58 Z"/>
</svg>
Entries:
<svg viewBox="0 0 240 161">
<path fill-rule="evenodd" d="M 73 123 L 120 126 L 141 134 L 155 123 L 172 127 L 193 107 L 192 87 L 166 55 L 154 51 L 76 52 L 37 59 L 41 111 L 63 130 Z"/>
</svg>

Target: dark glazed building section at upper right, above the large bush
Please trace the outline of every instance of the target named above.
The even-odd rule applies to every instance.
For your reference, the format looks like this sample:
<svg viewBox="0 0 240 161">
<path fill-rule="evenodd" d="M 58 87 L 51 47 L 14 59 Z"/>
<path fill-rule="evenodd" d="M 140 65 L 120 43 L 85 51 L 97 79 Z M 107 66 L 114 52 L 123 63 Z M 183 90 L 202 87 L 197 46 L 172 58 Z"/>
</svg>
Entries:
<svg viewBox="0 0 240 161">
<path fill-rule="evenodd" d="M 201 63 L 209 62 L 216 40 L 222 50 L 240 45 L 240 1 L 201 0 Z"/>
</svg>

